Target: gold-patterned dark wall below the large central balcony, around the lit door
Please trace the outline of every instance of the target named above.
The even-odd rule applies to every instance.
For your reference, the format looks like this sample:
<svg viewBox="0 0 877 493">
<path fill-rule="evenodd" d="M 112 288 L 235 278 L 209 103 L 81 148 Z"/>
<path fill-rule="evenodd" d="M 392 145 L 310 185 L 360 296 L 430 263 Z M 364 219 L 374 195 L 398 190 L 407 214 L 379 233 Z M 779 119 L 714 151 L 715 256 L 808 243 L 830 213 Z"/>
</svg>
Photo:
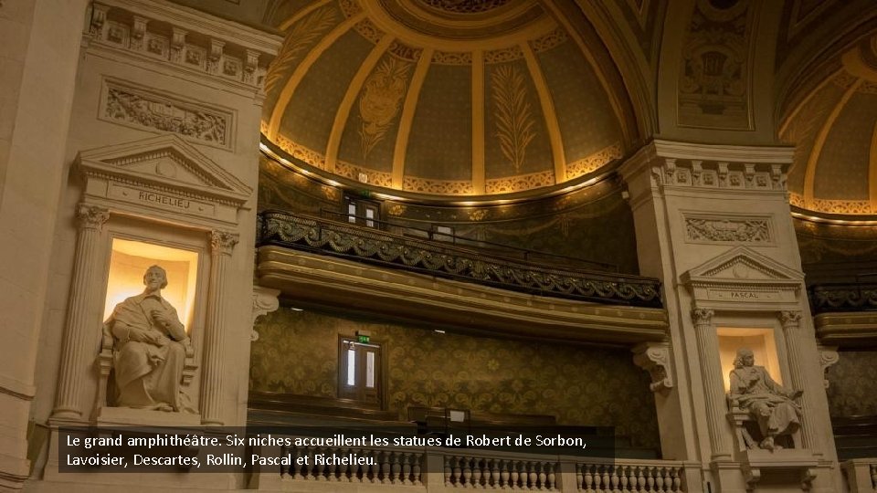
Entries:
<svg viewBox="0 0 877 493">
<path fill-rule="evenodd" d="M 281 308 L 256 324 L 250 390 L 335 397 L 338 335 L 361 329 L 385 345 L 391 410 L 554 414 L 561 425 L 616 425 L 634 446 L 658 447 L 650 378 L 627 350 L 437 334 Z"/>
</svg>

